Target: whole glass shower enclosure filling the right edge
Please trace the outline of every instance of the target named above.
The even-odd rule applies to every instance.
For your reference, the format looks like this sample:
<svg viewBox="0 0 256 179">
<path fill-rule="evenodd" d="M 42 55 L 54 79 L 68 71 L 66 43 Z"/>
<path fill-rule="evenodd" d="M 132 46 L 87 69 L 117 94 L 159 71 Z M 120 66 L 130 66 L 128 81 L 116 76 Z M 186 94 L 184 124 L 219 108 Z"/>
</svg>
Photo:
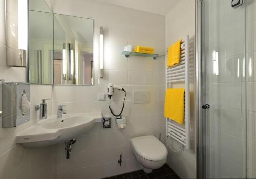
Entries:
<svg viewBox="0 0 256 179">
<path fill-rule="evenodd" d="M 197 176 L 256 177 L 256 1 L 197 2 Z"/>
</svg>

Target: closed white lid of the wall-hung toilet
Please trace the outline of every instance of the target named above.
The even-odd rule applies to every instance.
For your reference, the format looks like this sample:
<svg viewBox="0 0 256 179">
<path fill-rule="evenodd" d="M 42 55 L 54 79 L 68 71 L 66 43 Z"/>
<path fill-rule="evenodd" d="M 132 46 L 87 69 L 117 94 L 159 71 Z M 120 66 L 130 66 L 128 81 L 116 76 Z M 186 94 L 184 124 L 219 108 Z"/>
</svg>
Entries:
<svg viewBox="0 0 256 179">
<path fill-rule="evenodd" d="M 140 136 L 131 139 L 133 149 L 144 159 L 160 161 L 166 158 L 167 149 L 155 136 Z"/>
</svg>

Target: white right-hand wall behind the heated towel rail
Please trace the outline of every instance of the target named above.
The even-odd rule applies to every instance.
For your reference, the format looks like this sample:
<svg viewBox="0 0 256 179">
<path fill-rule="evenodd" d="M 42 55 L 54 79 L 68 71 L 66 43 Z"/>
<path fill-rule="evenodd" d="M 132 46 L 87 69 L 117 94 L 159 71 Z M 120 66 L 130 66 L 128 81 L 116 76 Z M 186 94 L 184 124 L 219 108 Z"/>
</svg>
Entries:
<svg viewBox="0 0 256 179">
<path fill-rule="evenodd" d="M 174 42 L 190 37 L 190 48 L 194 48 L 195 39 L 195 1 L 179 1 L 176 6 L 165 16 L 166 48 Z M 193 50 L 192 50 L 193 52 Z M 190 62 L 194 64 L 194 54 L 190 54 Z M 193 69 L 190 69 L 193 71 Z M 196 151 L 195 151 L 195 118 L 194 118 L 194 78 L 190 80 L 190 136 L 191 149 L 176 155 L 168 147 L 168 164 L 181 178 L 195 178 L 196 176 Z M 179 86 L 180 87 L 180 86 Z M 173 139 L 168 143 L 179 150 L 181 144 Z"/>
</svg>

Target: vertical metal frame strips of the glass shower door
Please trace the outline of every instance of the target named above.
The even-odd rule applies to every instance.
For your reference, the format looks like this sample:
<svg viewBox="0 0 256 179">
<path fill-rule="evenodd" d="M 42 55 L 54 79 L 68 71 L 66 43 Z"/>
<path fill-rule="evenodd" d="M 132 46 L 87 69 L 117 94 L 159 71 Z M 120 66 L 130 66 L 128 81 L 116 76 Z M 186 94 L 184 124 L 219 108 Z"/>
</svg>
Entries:
<svg viewBox="0 0 256 179">
<path fill-rule="evenodd" d="M 195 92 L 195 101 L 196 101 L 196 178 L 206 178 L 206 156 L 205 156 L 205 151 L 206 148 L 204 146 L 204 141 L 205 139 L 205 134 L 206 134 L 206 127 L 203 119 L 205 119 L 205 114 L 202 113 L 202 82 L 205 79 L 202 79 L 202 63 L 203 60 L 205 60 L 205 50 L 203 49 L 204 47 L 202 46 L 202 39 L 203 38 L 203 30 L 202 30 L 202 21 L 203 21 L 203 8 L 202 8 L 202 1 L 203 0 L 195 0 L 195 19 L 196 19 L 196 25 L 195 25 L 195 55 L 196 55 L 196 61 L 195 61 L 195 85 L 196 85 L 196 92 Z M 230 1 L 231 2 L 231 1 Z M 244 0 L 246 2 L 246 0 Z M 246 9 L 245 9 L 245 14 L 246 14 Z M 245 15 L 246 18 L 246 15 Z M 245 19 L 246 20 L 246 19 Z M 246 32 L 246 23 L 245 23 L 245 32 Z M 245 59 L 246 59 L 246 33 L 245 33 Z M 241 37 L 242 38 L 242 37 Z M 245 66 L 246 60 L 245 60 Z M 247 69 L 245 67 L 245 69 Z M 245 70 L 245 74 L 247 74 Z M 246 77 L 246 75 L 245 75 Z M 247 80 L 245 79 L 245 82 Z M 245 89 L 246 91 L 246 89 Z M 247 95 L 245 97 L 247 100 Z M 247 104 L 245 104 L 247 105 Z M 203 116 L 204 115 L 204 116 Z M 246 107 L 246 119 L 247 119 L 247 107 Z M 247 131 L 247 120 L 245 122 L 246 126 L 246 159 L 245 159 L 245 178 L 248 176 L 248 131 Z"/>
</svg>

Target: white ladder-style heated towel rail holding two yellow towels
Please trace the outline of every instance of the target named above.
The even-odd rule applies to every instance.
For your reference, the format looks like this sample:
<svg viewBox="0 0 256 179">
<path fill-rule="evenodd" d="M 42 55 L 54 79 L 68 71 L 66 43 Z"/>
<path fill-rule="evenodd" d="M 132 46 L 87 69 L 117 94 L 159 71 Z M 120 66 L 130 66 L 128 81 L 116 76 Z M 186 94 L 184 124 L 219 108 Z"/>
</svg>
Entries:
<svg viewBox="0 0 256 179">
<path fill-rule="evenodd" d="M 168 52 L 167 52 L 168 54 Z M 166 56 L 167 66 L 167 56 Z M 185 146 L 190 148 L 190 89 L 189 89 L 189 36 L 186 35 L 181 40 L 180 63 L 178 65 L 166 68 L 166 89 L 185 85 L 185 123 L 180 125 L 175 121 L 166 118 L 166 136 L 172 137 Z"/>
</svg>

